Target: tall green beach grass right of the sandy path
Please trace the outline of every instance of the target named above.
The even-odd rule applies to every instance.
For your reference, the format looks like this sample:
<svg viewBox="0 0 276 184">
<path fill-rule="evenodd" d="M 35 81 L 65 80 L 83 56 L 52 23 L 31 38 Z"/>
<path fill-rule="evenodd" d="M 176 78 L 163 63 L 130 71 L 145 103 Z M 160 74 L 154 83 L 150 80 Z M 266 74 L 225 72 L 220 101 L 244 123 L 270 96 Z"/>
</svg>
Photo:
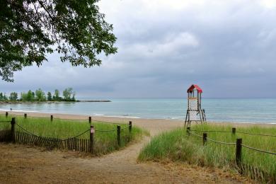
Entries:
<svg viewBox="0 0 276 184">
<path fill-rule="evenodd" d="M 244 126 L 236 127 L 236 134 L 231 133 L 231 126 L 227 125 L 194 125 L 191 130 L 202 136 L 201 131 L 215 130 L 226 132 L 207 132 L 207 137 L 220 142 L 236 143 L 237 138 L 242 138 L 243 144 L 265 151 L 276 152 L 276 137 L 257 136 L 251 134 L 274 134 L 276 127 Z M 238 132 L 248 132 L 251 134 L 241 134 Z M 202 137 L 190 134 L 186 129 L 173 130 L 160 134 L 151 142 L 144 146 L 139 154 L 139 161 L 161 161 L 170 159 L 171 161 L 184 161 L 198 166 L 211 166 L 218 168 L 235 169 L 236 159 L 235 144 L 219 144 L 207 140 L 203 146 Z M 264 154 L 242 147 L 242 163 L 254 166 L 276 176 L 276 156 Z"/>
</svg>

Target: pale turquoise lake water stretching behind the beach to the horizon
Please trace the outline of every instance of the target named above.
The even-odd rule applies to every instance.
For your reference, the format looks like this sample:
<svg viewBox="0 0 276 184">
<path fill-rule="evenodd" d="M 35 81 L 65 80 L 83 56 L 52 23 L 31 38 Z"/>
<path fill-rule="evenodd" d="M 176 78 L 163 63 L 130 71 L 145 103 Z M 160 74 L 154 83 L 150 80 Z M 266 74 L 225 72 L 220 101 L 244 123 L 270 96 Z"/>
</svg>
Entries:
<svg viewBox="0 0 276 184">
<path fill-rule="evenodd" d="M 113 98 L 110 103 L 1 105 L 0 110 L 184 120 L 186 98 Z M 276 123 L 276 98 L 203 98 L 207 121 Z"/>
</svg>

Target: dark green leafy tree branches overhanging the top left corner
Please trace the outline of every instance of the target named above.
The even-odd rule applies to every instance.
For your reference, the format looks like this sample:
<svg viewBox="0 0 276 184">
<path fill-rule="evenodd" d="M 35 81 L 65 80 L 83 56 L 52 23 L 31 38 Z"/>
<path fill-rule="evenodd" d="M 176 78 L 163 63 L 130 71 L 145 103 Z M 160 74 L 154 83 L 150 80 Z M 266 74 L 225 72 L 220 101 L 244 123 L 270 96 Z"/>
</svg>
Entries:
<svg viewBox="0 0 276 184">
<path fill-rule="evenodd" d="M 47 61 L 57 51 L 72 66 L 100 65 L 98 55 L 114 54 L 113 25 L 98 0 L 0 0 L 0 76 Z"/>
</svg>

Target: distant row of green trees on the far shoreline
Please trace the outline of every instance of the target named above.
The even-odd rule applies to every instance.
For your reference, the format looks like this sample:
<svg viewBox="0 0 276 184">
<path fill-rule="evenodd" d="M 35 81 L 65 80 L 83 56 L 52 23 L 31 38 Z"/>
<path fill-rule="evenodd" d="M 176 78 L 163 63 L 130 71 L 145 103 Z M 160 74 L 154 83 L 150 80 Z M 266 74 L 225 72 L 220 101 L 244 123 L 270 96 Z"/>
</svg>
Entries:
<svg viewBox="0 0 276 184">
<path fill-rule="evenodd" d="M 36 91 L 29 90 L 27 93 L 22 92 L 21 97 L 18 97 L 18 93 L 11 92 L 10 96 L 6 96 L 6 93 L 0 93 L 0 101 L 13 100 L 13 101 L 76 101 L 76 93 L 73 91 L 73 88 L 66 88 L 62 92 L 63 97 L 59 96 L 59 90 L 54 90 L 54 94 L 49 91 L 47 96 L 45 92 L 39 88 Z"/>
</svg>

